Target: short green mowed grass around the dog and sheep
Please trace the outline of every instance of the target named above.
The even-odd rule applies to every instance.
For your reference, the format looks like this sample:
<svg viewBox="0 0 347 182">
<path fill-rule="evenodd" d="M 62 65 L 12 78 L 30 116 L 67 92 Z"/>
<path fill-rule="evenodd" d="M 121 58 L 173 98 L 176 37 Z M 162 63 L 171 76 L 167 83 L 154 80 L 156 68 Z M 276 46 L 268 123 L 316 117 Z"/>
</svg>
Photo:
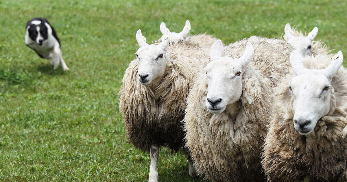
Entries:
<svg viewBox="0 0 347 182">
<path fill-rule="evenodd" d="M 162 21 L 180 32 L 188 19 L 191 34 L 229 44 L 280 37 L 287 23 L 303 32 L 318 26 L 316 40 L 347 57 L 345 7 L 344 0 L 1 0 L 0 181 L 148 180 L 149 154 L 129 144 L 118 99 L 138 29 L 151 43 Z M 56 29 L 70 71 L 53 70 L 24 44 L 35 17 Z M 160 181 L 192 181 L 182 152 L 162 148 L 158 171 Z"/>
</svg>

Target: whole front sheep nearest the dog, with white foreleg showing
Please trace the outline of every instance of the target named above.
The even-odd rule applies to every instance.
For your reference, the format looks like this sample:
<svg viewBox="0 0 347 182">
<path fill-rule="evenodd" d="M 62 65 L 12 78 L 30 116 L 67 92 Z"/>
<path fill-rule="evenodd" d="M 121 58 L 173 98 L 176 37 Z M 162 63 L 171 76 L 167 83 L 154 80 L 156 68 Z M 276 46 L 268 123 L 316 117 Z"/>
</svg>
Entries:
<svg viewBox="0 0 347 182">
<path fill-rule="evenodd" d="M 209 58 L 196 45 L 169 45 L 169 34 L 161 43 L 147 44 L 141 30 L 136 40 L 140 48 L 130 62 L 119 91 L 119 109 L 128 140 L 136 148 L 150 152 L 149 181 L 158 181 L 157 161 L 161 146 L 172 151 L 184 149 L 189 175 L 197 177 L 189 151 L 185 148 L 183 123 L 186 97 L 195 77 Z"/>
</svg>

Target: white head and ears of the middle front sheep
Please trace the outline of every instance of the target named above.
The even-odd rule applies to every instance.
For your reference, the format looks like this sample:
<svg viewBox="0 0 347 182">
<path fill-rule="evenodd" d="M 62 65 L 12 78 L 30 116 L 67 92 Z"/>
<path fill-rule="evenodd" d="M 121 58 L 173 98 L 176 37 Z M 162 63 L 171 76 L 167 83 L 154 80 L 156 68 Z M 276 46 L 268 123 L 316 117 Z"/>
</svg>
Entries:
<svg viewBox="0 0 347 182">
<path fill-rule="evenodd" d="M 223 57 L 222 41 L 216 41 L 210 51 L 211 62 L 206 66 L 208 93 L 206 107 L 213 114 L 222 113 L 227 105 L 237 102 L 242 95 L 242 75 L 252 60 L 254 48 L 247 43 L 239 59 Z"/>
</svg>

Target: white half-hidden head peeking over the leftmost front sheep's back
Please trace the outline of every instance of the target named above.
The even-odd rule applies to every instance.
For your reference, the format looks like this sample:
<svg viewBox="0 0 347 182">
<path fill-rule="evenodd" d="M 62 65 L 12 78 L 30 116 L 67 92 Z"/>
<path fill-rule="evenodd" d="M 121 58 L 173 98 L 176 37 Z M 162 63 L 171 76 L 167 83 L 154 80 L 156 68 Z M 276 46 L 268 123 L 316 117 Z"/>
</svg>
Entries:
<svg viewBox="0 0 347 182">
<path fill-rule="evenodd" d="M 163 34 L 163 36 L 160 39 L 163 39 L 163 37 L 167 34 L 167 31 L 169 31 L 170 33 L 170 42 L 186 41 L 186 38 L 189 32 L 191 31 L 191 23 L 187 20 L 182 32 L 176 33 L 170 32 L 170 30 L 166 27 L 165 23 L 162 22 L 160 24 L 160 32 Z"/>
</svg>

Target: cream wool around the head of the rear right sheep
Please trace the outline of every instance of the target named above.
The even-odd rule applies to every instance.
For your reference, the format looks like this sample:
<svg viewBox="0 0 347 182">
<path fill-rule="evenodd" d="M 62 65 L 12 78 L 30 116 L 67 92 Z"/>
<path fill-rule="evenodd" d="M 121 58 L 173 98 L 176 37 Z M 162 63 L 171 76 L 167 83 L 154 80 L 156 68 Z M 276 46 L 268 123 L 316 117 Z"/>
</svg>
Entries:
<svg viewBox="0 0 347 182">
<path fill-rule="evenodd" d="M 293 31 L 293 35 L 295 37 L 307 37 L 307 34 L 305 33 L 305 35 L 300 31 L 298 31 L 296 28 L 292 28 L 291 29 Z M 284 39 L 286 42 L 288 42 L 288 39 L 285 35 L 282 35 L 282 39 Z M 318 54 L 328 54 L 328 55 L 332 55 L 330 54 L 332 50 L 330 50 L 327 45 L 325 45 L 322 41 L 318 40 L 318 41 L 313 41 L 312 42 L 312 47 L 311 47 L 311 54 L 313 56 L 316 56 Z"/>
</svg>

